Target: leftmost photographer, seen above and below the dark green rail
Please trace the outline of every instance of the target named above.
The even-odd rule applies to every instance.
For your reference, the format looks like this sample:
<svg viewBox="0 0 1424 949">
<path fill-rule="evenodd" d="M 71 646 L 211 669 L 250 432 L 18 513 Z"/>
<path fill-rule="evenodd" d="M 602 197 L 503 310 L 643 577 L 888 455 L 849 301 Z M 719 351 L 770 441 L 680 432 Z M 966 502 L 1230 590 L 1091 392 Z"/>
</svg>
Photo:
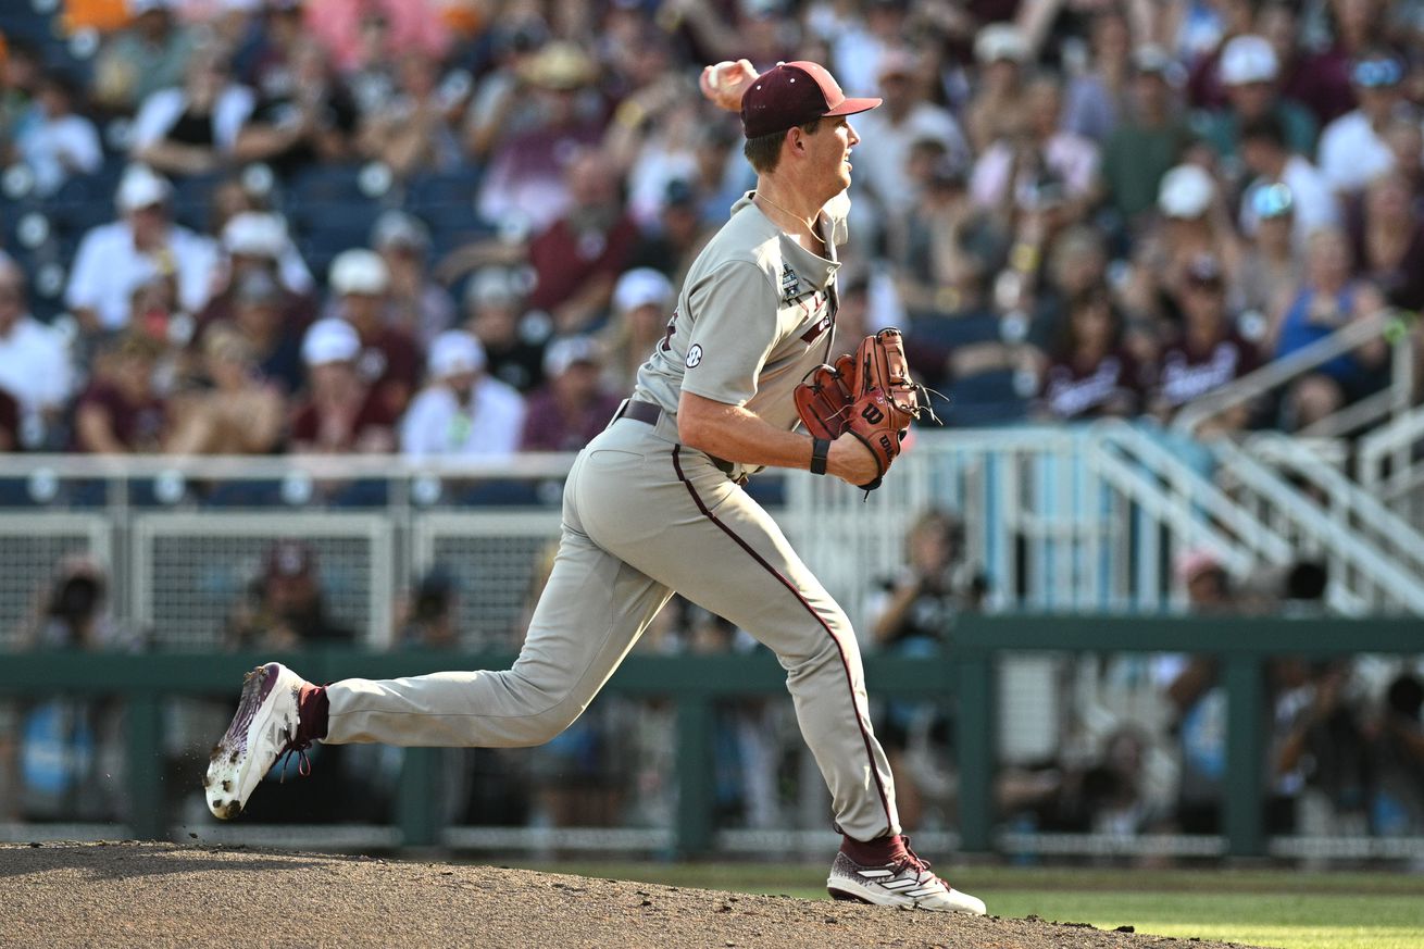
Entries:
<svg viewBox="0 0 1424 949">
<path fill-rule="evenodd" d="M 87 556 L 60 560 L 40 590 L 19 648 L 135 651 L 138 637 L 115 623 L 110 577 Z M 54 697 L 20 705 L 14 744 L 0 741 L 0 816 L 23 821 L 120 821 L 127 815 L 124 704 L 115 698 Z"/>
</svg>

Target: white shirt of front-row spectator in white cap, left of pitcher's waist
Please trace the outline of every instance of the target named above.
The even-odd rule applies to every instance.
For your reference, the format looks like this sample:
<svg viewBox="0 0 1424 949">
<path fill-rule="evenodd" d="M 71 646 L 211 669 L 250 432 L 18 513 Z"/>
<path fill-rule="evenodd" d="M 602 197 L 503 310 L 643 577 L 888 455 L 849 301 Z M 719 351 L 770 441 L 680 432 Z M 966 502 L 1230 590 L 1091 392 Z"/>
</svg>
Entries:
<svg viewBox="0 0 1424 949">
<path fill-rule="evenodd" d="M 518 450 L 524 430 L 524 396 L 514 386 L 481 376 L 473 406 L 436 383 L 406 409 L 400 422 L 400 450 L 406 457 L 501 457 Z"/>
</svg>

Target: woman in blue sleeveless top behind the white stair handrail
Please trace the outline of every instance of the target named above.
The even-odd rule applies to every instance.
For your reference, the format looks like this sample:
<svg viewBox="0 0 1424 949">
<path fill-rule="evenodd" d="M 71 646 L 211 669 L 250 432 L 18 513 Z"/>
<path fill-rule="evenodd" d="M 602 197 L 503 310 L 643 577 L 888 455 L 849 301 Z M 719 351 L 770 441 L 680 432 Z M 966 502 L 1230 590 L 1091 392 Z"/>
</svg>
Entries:
<svg viewBox="0 0 1424 949">
<path fill-rule="evenodd" d="M 1334 228 L 1321 228 L 1306 244 L 1306 275 L 1280 321 L 1273 323 L 1267 346 L 1274 358 L 1329 336 L 1353 319 L 1374 313 L 1386 301 L 1367 281 L 1351 276 L 1350 244 Z M 1287 430 L 1319 422 L 1388 383 L 1388 348 L 1374 339 L 1336 356 L 1297 379 L 1287 392 L 1283 423 Z"/>
</svg>

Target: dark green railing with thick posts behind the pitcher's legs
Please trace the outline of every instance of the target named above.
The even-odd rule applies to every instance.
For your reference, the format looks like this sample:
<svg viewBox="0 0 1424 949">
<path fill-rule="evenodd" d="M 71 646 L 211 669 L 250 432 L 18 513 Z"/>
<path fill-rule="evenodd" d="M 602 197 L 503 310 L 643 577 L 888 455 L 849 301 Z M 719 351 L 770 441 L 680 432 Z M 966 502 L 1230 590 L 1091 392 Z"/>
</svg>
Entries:
<svg viewBox="0 0 1424 949">
<path fill-rule="evenodd" d="M 954 702 L 954 748 L 958 769 L 958 844 L 968 852 L 998 848 L 1024 849 L 1001 825 L 994 805 L 994 775 L 1001 759 L 997 722 L 1004 697 L 997 694 L 995 668 L 1017 653 L 1192 653 L 1219 660 L 1219 681 L 1227 695 L 1226 774 L 1223 777 L 1225 852 L 1256 856 L 1290 852 L 1274 841 L 1267 848 L 1260 802 L 1265 794 L 1266 737 L 1262 732 L 1265 675 L 1262 664 L 1276 655 L 1339 657 L 1357 653 L 1418 654 L 1420 623 L 1414 618 L 1336 620 L 1237 617 L 1229 623 L 1189 617 L 1104 616 L 967 616 L 954 633 L 954 650 L 940 661 L 931 657 L 870 655 L 866 675 L 871 695 L 893 690 L 900 698 Z M 125 834 L 162 838 L 171 834 L 164 808 L 162 702 L 172 695 L 231 695 L 241 675 L 259 661 L 282 658 L 320 681 L 353 675 L 412 675 L 440 668 L 503 668 L 513 658 L 503 654 L 310 651 L 298 655 L 211 653 L 154 653 L 114 655 L 97 653 L 4 654 L 0 661 L 0 694 L 120 695 L 127 704 L 127 764 L 131 825 Z M 632 655 L 609 680 L 608 693 L 658 695 L 676 707 L 678 804 L 671 838 L 652 845 L 672 845 L 682 855 L 708 854 L 718 844 L 713 822 L 713 707 L 740 697 L 785 694 L 785 670 L 769 654 L 655 657 Z M 194 788 L 201 777 L 191 775 Z M 387 845 L 407 848 L 461 844 L 461 835 L 439 825 L 430 801 L 436 799 L 436 769 L 430 752 L 412 751 L 404 758 L 396 799 L 396 829 L 382 832 Z M 827 818 L 829 819 L 829 818 Z M 245 825 L 224 825 L 224 839 L 244 838 Z M 258 828 L 256 835 L 262 831 Z M 349 829 L 333 828 L 330 839 Z M 256 839 L 256 838 L 253 838 Z M 276 842 L 271 836 L 262 838 Z M 513 845 L 514 838 L 506 844 Z M 286 839 L 288 845 L 292 838 Z M 723 841 L 732 844 L 732 841 Z M 1055 852 L 1099 852 L 1102 842 L 1082 841 L 1072 851 L 1062 839 Z M 1356 851 L 1418 855 L 1411 846 L 1367 846 Z M 356 845 L 356 844 L 353 844 Z M 363 844 L 370 846 L 372 844 Z M 379 844 L 376 844 L 379 845 Z M 1045 842 L 1045 846 L 1048 844 Z M 1413 849 L 1411 849 L 1413 848 Z M 1119 848 L 1121 851 L 1122 848 Z M 1296 848 L 1299 849 L 1299 846 Z M 1351 852 L 1356 852 L 1351 851 Z M 1171 851 L 1178 852 L 1178 851 Z M 1190 844 L 1188 852 L 1222 852 L 1213 838 Z"/>
</svg>

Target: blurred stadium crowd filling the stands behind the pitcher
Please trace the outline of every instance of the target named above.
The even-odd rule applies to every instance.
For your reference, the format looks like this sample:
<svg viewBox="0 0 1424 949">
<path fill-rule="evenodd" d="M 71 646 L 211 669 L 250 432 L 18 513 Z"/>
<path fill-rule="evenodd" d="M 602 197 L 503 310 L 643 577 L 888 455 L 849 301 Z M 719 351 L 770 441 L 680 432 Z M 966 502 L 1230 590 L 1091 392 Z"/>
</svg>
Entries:
<svg viewBox="0 0 1424 949">
<path fill-rule="evenodd" d="M 752 182 L 696 88 L 738 56 L 884 98 L 840 319 L 907 328 L 951 425 L 1166 419 L 1424 302 L 1413 3 L 28 6 L 0 17 L 10 450 L 578 447 Z M 1215 423 L 1307 425 L 1387 356 Z"/>
</svg>

